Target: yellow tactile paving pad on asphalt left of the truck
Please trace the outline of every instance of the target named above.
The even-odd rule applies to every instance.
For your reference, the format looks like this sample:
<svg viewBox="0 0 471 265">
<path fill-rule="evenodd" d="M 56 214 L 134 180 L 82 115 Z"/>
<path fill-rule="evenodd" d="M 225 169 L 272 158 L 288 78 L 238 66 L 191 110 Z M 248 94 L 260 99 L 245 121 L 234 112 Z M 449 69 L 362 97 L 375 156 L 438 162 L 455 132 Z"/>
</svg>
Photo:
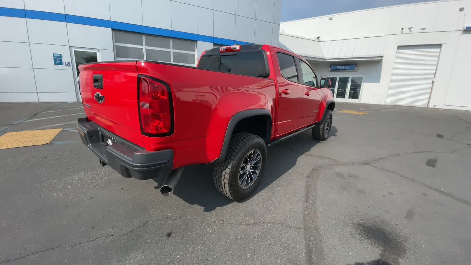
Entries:
<svg viewBox="0 0 471 265">
<path fill-rule="evenodd" d="M 0 136 L 0 149 L 47 144 L 61 129 L 7 132 Z"/>
</svg>

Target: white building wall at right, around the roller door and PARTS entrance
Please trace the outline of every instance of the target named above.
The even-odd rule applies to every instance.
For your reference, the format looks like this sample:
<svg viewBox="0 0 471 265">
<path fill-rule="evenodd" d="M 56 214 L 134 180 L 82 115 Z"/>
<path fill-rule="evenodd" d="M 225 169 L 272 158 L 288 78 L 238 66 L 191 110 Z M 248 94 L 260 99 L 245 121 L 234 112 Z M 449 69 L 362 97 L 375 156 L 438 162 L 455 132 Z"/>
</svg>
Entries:
<svg viewBox="0 0 471 265">
<path fill-rule="evenodd" d="M 441 44 L 428 107 L 471 110 L 471 89 L 464 81 L 471 33 L 463 31 L 463 26 L 471 26 L 471 16 L 465 16 L 470 10 L 471 0 L 425 2 L 284 22 L 280 31 L 313 39 L 320 36 L 326 57 L 382 55 L 381 62 L 357 62 L 357 72 L 329 73 L 330 64 L 342 61 L 311 61 L 315 70 L 320 69 L 319 76 L 365 75 L 360 102 L 374 104 L 386 102 L 398 46 Z"/>
</svg>

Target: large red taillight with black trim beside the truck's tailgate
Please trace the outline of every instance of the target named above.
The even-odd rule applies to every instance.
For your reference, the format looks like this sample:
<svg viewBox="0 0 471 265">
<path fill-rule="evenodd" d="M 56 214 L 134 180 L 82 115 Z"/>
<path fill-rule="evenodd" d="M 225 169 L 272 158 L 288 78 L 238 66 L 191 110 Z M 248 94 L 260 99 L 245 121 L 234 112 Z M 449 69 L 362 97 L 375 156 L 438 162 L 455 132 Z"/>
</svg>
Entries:
<svg viewBox="0 0 471 265">
<path fill-rule="evenodd" d="M 171 91 L 149 76 L 138 76 L 139 116 L 143 134 L 170 135 L 173 130 Z"/>
</svg>

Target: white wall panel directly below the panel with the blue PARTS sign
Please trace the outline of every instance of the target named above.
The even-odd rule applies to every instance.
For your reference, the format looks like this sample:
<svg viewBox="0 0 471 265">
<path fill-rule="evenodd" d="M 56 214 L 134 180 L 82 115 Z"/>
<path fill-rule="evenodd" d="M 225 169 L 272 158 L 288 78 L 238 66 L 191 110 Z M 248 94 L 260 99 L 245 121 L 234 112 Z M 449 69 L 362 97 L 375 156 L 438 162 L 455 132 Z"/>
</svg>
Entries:
<svg viewBox="0 0 471 265">
<path fill-rule="evenodd" d="M 34 69 L 38 92 L 75 93 L 72 69 Z"/>
</svg>

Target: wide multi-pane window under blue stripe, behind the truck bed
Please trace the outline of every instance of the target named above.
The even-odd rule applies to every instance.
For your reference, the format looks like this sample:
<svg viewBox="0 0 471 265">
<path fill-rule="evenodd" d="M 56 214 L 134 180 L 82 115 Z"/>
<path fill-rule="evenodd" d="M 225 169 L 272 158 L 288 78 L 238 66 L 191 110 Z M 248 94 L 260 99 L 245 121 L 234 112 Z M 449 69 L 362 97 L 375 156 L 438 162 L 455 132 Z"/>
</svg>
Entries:
<svg viewBox="0 0 471 265">
<path fill-rule="evenodd" d="M 196 64 L 196 41 L 114 30 L 113 45 L 116 60 L 144 59 L 187 66 Z"/>
</svg>

